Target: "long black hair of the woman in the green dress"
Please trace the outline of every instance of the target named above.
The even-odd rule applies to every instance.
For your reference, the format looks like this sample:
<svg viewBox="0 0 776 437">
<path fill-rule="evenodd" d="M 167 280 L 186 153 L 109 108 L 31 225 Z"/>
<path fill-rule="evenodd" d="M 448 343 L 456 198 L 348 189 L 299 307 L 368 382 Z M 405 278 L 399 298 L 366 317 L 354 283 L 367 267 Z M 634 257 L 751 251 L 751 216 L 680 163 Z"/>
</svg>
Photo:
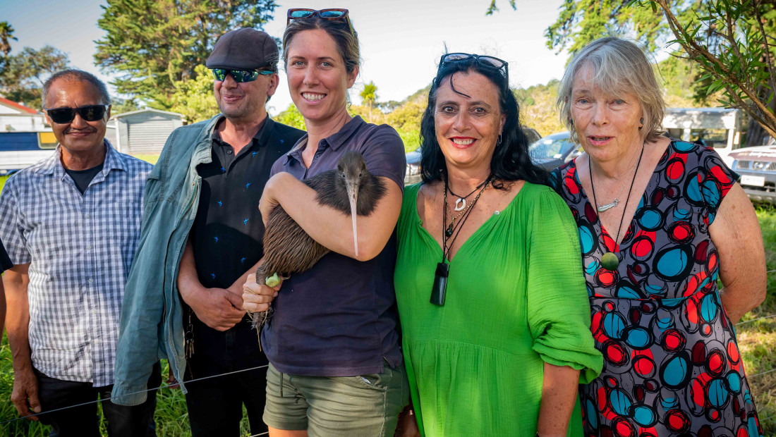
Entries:
<svg viewBox="0 0 776 437">
<path fill-rule="evenodd" d="M 439 85 L 449 79 L 452 86 L 452 75 L 456 73 L 478 73 L 487 77 L 498 89 L 498 103 L 501 113 L 507 116 L 504 129 L 501 130 L 501 145 L 494 150 L 490 159 L 490 174 L 493 176 L 494 188 L 506 189 L 504 182 L 519 179 L 533 184 L 547 184 L 547 172 L 532 163 L 528 156 L 528 139 L 520 126 L 520 108 L 514 98 L 507 78 L 500 70 L 486 67 L 471 58 L 443 64 L 439 67 L 431 90 L 428 92 L 428 106 L 421 119 L 421 177 L 428 183 L 442 181 L 447 171 L 445 157 L 439 148 L 434 126 L 434 112 Z M 453 88 L 453 91 L 456 91 Z M 459 93 L 459 91 L 456 91 Z M 459 93 L 461 94 L 461 93 Z"/>
</svg>

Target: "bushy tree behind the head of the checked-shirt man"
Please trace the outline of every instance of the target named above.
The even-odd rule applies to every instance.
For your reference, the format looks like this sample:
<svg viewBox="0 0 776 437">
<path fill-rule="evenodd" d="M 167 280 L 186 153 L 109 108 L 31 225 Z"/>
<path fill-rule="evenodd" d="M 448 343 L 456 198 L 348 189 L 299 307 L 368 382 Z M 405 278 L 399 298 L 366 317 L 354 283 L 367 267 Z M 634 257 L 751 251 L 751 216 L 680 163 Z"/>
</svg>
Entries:
<svg viewBox="0 0 776 437">
<path fill-rule="evenodd" d="M 40 50 L 24 47 L 5 60 L 5 66 L 0 71 L 0 93 L 14 102 L 40 108 L 43 81 L 69 65 L 68 53 L 52 46 L 43 46 Z"/>
</svg>

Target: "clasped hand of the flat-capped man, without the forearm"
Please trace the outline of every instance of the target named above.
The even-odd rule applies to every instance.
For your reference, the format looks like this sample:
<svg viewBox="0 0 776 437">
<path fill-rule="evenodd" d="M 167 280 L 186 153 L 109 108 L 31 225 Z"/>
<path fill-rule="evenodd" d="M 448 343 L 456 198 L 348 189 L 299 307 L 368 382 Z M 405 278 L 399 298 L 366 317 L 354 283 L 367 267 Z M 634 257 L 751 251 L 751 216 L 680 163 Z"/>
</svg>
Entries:
<svg viewBox="0 0 776 437">
<path fill-rule="evenodd" d="M 237 325 L 245 315 L 243 300 L 239 294 L 234 294 L 223 288 L 192 288 L 181 291 L 181 297 L 186 305 L 192 308 L 196 317 L 205 325 L 217 331 L 226 331 Z"/>
</svg>

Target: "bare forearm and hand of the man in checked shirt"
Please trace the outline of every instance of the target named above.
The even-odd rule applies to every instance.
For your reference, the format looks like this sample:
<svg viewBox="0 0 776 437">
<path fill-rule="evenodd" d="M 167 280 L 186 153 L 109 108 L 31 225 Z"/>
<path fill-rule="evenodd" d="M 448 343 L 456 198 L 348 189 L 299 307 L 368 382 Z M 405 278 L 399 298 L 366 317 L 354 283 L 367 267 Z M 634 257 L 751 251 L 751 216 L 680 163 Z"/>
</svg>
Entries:
<svg viewBox="0 0 776 437">
<path fill-rule="evenodd" d="M 19 415 L 40 412 L 38 401 L 38 380 L 33 372 L 32 355 L 29 349 L 29 263 L 19 264 L 5 271 L 2 281 L 5 285 L 5 300 L 8 304 L 6 322 L 8 341 L 13 360 L 13 391 L 11 401 Z M 38 420 L 35 416 L 30 420 Z"/>
</svg>

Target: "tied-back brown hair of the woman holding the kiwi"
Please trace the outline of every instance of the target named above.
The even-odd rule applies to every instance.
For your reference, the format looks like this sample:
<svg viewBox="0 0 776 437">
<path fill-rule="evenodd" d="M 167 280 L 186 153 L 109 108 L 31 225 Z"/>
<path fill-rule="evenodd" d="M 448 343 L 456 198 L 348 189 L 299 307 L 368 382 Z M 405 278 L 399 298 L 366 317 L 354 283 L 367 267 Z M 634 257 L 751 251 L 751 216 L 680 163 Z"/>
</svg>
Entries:
<svg viewBox="0 0 776 437">
<path fill-rule="evenodd" d="M 345 61 L 345 71 L 352 73 L 355 67 L 361 64 L 361 53 L 359 51 L 359 33 L 352 27 L 352 22 L 334 19 L 321 19 L 318 15 L 313 15 L 305 19 L 293 19 L 286 26 L 283 32 L 283 67 L 288 66 L 289 55 L 288 47 L 297 33 L 304 30 L 322 29 L 334 39 L 337 44 L 337 51 L 342 60 Z M 353 33 L 351 33 L 353 29 Z"/>
</svg>

